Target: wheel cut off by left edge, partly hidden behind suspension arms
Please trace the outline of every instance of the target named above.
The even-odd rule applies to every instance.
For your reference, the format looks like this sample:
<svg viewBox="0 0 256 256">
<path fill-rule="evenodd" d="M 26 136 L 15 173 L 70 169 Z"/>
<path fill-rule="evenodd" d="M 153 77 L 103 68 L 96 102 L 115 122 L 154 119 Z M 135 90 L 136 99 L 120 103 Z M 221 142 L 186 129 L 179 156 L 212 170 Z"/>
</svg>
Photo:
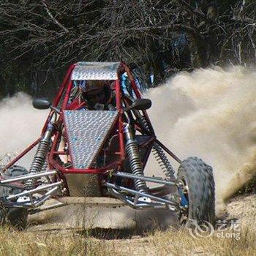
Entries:
<svg viewBox="0 0 256 256">
<path fill-rule="evenodd" d="M 4 178 L 14 178 L 17 176 L 25 175 L 28 171 L 21 166 L 12 165 L 5 173 Z M 13 195 L 21 192 L 21 189 L 10 189 L 1 187 L 0 196 Z M 18 229 L 24 229 L 27 224 L 28 211 L 24 208 L 1 208 L 0 209 L 1 224 L 10 224 Z"/>
</svg>

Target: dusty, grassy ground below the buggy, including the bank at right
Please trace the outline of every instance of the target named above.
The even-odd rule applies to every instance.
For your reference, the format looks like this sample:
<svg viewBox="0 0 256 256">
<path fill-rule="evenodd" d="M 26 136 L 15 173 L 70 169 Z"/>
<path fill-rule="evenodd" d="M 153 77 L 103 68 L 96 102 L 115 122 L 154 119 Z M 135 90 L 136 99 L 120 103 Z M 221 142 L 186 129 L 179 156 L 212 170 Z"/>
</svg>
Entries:
<svg viewBox="0 0 256 256">
<path fill-rule="evenodd" d="M 218 238 L 217 230 L 209 237 L 193 238 L 188 230 L 159 227 L 161 219 L 166 218 L 175 227 L 175 217 L 166 213 L 152 212 L 138 214 L 137 211 L 120 209 L 102 210 L 90 208 L 84 211 L 87 218 L 76 222 L 72 229 L 72 215 L 75 208 L 64 210 L 62 216 L 45 214 L 38 219 L 31 218 L 28 230 L 18 232 L 4 228 L 0 230 L 1 255 L 256 255 L 256 195 L 236 197 L 227 203 L 229 217 L 241 221 L 236 238 Z M 97 211 L 96 211 L 97 210 Z M 119 215 L 116 214 L 119 211 Z M 97 214 L 95 214 L 97 212 Z M 94 213 L 94 214 L 92 214 Z M 91 215 L 90 215 L 91 214 Z M 112 217 L 111 217 L 112 216 Z M 151 217 L 150 217 L 151 216 Z M 96 222 L 102 218 L 111 219 L 102 222 L 100 228 Z M 94 219 L 89 225 L 89 219 Z M 46 224 L 46 221 L 50 224 Z M 127 219 L 124 222 L 124 219 Z M 34 224 L 33 224 L 34 223 Z M 87 228 L 81 227 L 86 224 Z M 98 222 L 99 223 L 99 222 Z M 117 223 L 122 226 L 117 228 Z M 154 229 L 149 229 L 153 224 Z M 135 225 L 136 224 L 136 225 Z M 148 224 L 148 225 L 146 225 Z M 80 227 L 79 227 L 80 226 Z M 98 227 L 97 227 L 98 226 Z M 146 231 L 135 232 L 137 227 L 146 227 Z M 229 231 L 227 231 L 228 233 Z"/>
</svg>

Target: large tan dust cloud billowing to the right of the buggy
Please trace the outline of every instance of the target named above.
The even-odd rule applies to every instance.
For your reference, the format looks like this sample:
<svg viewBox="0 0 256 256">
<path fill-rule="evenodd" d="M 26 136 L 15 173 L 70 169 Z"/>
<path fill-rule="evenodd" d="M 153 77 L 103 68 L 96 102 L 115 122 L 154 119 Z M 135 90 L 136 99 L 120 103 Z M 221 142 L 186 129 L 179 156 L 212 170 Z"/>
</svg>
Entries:
<svg viewBox="0 0 256 256">
<path fill-rule="evenodd" d="M 159 140 L 211 165 L 225 199 L 255 173 L 255 95 L 255 70 L 212 67 L 181 72 L 145 97 Z"/>
</svg>

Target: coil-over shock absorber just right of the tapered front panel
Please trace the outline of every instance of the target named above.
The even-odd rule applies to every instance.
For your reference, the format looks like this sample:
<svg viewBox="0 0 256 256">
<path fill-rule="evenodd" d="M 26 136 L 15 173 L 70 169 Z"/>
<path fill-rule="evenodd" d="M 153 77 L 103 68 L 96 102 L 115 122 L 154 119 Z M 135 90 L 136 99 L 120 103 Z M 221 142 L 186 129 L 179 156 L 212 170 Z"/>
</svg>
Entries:
<svg viewBox="0 0 256 256">
<path fill-rule="evenodd" d="M 127 150 L 129 165 L 131 167 L 132 174 L 143 176 L 143 166 L 140 161 L 138 144 L 134 139 L 132 127 L 130 126 L 130 124 L 127 124 L 124 127 L 124 134 L 127 139 L 126 150 Z M 138 190 L 139 192 L 146 192 L 147 191 L 146 181 L 135 180 L 135 189 Z"/>
</svg>

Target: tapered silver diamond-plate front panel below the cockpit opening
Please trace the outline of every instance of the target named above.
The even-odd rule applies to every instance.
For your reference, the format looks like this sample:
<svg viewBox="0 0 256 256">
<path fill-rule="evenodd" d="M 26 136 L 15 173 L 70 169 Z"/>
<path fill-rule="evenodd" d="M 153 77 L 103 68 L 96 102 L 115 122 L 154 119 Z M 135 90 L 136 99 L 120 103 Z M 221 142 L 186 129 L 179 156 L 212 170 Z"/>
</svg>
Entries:
<svg viewBox="0 0 256 256">
<path fill-rule="evenodd" d="M 118 111 L 108 110 L 64 111 L 73 167 L 77 169 L 91 167 L 117 116 Z"/>
</svg>

